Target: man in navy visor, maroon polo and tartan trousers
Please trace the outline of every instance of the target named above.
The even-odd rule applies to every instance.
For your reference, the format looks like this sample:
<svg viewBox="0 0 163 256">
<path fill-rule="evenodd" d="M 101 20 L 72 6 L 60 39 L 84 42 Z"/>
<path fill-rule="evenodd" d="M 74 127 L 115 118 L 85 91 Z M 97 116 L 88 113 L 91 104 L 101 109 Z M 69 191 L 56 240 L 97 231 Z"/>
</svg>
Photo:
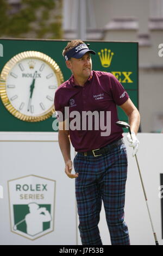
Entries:
<svg viewBox="0 0 163 256">
<path fill-rule="evenodd" d="M 111 73 L 92 71 L 90 54 L 95 52 L 82 40 L 68 42 L 62 52 L 72 76 L 55 93 L 59 146 L 65 161 L 65 173 L 69 178 L 76 179 L 82 244 L 102 245 L 98 222 L 103 200 L 111 244 L 130 245 L 128 227 L 124 222 L 127 153 L 122 139 L 123 130 L 115 124 L 118 121 L 116 106 L 120 106 L 128 115 L 133 138 L 131 141 L 128 135 L 128 140 L 134 147 L 133 155 L 139 148 L 136 134 L 140 114 L 122 84 Z M 95 113 L 92 124 L 85 124 L 88 117 L 86 120 L 82 119 L 82 113 L 88 111 Z M 80 118 L 71 123 L 74 113 L 79 113 Z M 96 123 L 101 118 L 101 113 L 104 125 L 99 125 L 97 129 Z M 69 130 L 67 122 L 71 123 Z M 77 129 L 74 129 L 74 123 L 78 123 Z M 106 130 L 108 128 L 108 132 L 104 133 L 104 127 Z M 71 173 L 70 141 L 77 151 L 73 161 L 75 174 Z"/>
</svg>

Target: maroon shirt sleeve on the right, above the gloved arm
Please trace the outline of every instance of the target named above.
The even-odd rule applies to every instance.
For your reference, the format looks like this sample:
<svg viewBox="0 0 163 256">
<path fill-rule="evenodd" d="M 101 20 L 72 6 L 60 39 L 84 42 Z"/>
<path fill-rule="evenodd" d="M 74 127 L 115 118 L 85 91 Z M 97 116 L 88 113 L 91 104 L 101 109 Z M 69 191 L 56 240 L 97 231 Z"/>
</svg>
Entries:
<svg viewBox="0 0 163 256">
<path fill-rule="evenodd" d="M 122 86 L 122 84 L 117 80 L 117 78 L 114 75 L 110 73 L 109 78 L 110 78 L 112 97 L 116 105 L 120 106 L 128 100 L 129 95 L 124 89 L 124 87 Z"/>
</svg>

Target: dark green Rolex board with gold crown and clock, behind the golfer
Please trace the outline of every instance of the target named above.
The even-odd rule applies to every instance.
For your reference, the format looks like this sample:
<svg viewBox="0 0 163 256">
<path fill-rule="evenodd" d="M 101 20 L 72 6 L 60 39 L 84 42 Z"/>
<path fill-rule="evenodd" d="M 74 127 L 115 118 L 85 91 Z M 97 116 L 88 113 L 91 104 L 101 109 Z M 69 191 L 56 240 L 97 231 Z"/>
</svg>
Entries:
<svg viewBox="0 0 163 256">
<path fill-rule="evenodd" d="M 67 42 L 0 39 L 0 131 L 53 131 L 55 90 L 71 76 L 62 57 Z M 139 108 L 138 43 L 86 42 L 96 51 L 92 69 L 111 72 Z M 117 109 L 119 119 L 128 121 Z"/>
</svg>

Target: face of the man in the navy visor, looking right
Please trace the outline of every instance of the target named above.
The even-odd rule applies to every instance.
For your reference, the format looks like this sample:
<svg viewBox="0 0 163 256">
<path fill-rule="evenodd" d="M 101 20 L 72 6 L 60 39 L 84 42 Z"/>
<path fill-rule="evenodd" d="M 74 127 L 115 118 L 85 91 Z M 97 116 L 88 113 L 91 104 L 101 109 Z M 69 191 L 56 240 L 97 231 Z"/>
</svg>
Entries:
<svg viewBox="0 0 163 256">
<path fill-rule="evenodd" d="M 90 53 L 85 53 L 82 58 L 71 58 L 67 60 L 67 67 L 71 69 L 76 77 L 88 78 L 92 70 L 92 60 Z"/>
</svg>

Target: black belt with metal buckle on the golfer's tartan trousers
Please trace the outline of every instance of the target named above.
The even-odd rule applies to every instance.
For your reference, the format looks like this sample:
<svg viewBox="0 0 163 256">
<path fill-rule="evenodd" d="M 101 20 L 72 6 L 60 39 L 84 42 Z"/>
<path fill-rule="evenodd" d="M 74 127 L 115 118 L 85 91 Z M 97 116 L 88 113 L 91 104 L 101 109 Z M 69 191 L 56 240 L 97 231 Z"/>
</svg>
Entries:
<svg viewBox="0 0 163 256">
<path fill-rule="evenodd" d="M 118 139 L 118 141 L 114 141 L 101 149 L 94 149 L 91 151 L 79 152 L 79 153 L 82 153 L 84 156 L 102 156 L 103 154 L 108 153 L 109 151 L 116 148 L 118 145 L 121 145 L 122 143 L 124 143 L 123 139 Z"/>
</svg>

